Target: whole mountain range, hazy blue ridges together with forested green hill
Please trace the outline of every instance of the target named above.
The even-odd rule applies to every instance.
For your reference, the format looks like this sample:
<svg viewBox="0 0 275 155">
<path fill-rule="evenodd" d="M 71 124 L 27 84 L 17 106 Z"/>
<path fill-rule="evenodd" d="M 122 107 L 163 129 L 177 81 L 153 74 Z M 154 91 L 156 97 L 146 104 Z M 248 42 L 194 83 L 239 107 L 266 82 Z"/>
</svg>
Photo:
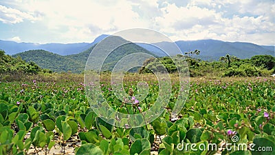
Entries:
<svg viewBox="0 0 275 155">
<path fill-rule="evenodd" d="M 1 41 L 0 49 L 6 54 L 12 56 L 21 56 L 25 61 L 34 61 L 42 68 L 48 68 L 54 72 L 83 72 L 85 63 L 91 50 L 96 43 L 108 37 L 102 34 L 91 43 L 17 43 L 14 41 Z M 119 39 L 118 39 L 119 40 Z M 254 55 L 272 55 L 275 56 L 274 45 L 256 45 L 254 43 L 228 42 L 213 39 L 198 41 L 175 41 L 181 52 L 190 52 L 200 50 L 199 59 L 214 61 L 219 60 L 221 56 L 230 54 L 241 59 L 249 59 Z M 159 42 L 155 45 L 168 45 L 166 42 Z M 126 52 L 125 52 L 126 51 Z M 105 68 L 111 68 L 115 65 L 115 60 L 133 52 L 145 52 L 154 56 L 166 56 L 161 49 L 146 43 L 130 43 L 123 48 L 118 48 L 114 52 L 112 59 L 109 59 Z M 108 69 L 107 69 L 108 70 Z"/>
</svg>

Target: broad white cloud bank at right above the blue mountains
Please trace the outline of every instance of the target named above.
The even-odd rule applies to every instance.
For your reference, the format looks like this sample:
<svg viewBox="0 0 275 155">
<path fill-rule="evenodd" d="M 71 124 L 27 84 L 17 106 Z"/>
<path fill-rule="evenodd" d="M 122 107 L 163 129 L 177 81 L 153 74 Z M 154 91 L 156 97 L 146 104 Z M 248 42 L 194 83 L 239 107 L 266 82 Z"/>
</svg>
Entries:
<svg viewBox="0 0 275 155">
<path fill-rule="evenodd" d="M 199 7 L 199 5 L 210 7 Z M 275 26 L 274 21 L 270 21 L 268 14 L 259 12 L 258 15 L 252 16 L 235 13 L 232 17 L 228 17 L 223 12 L 226 10 L 214 9 L 219 5 L 224 7 L 232 4 L 228 2 L 213 5 L 211 0 L 191 1 L 183 7 L 176 6 L 175 3 L 168 3 L 166 7 L 162 8 L 164 15 L 156 17 L 155 21 L 157 25 L 160 25 L 159 30 L 170 34 L 174 41 L 221 39 L 274 45 L 274 37 L 271 34 L 274 34 Z M 236 8 L 238 7 L 236 6 Z M 248 13 L 248 10 L 244 10 Z M 254 14 L 256 13 L 254 12 Z"/>
</svg>

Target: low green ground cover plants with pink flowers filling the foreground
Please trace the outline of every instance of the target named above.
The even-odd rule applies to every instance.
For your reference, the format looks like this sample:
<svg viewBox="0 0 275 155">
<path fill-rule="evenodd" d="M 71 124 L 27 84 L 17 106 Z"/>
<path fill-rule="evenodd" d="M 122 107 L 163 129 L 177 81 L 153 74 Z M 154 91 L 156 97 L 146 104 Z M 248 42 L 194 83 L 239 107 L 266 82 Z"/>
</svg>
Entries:
<svg viewBox="0 0 275 155">
<path fill-rule="evenodd" d="M 131 96 L 137 94 L 140 76 L 124 77 L 124 89 Z M 87 102 L 81 76 L 56 82 L 1 81 L 0 152 L 53 154 L 57 149 L 59 154 L 274 154 L 274 78 L 192 78 L 188 100 L 174 118 L 170 112 L 179 83 L 177 76 L 171 76 L 173 94 L 166 110 L 155 121 L 136 128 L 114 127 L 96 116 Z M 153 105 L 158 91 L 153 75 L 142 78 L 149 93 L 137 106 L 115 98 L 108 74 L 102 76 L 100 89 L 114 110 L 140 113 Z M 232 143 L 231 147 L 225 142 Z M 217 148 L 210 145 L 213 149 L 207 149 L 209 144 L 217 144 Z M 239 149 L 243 144 L 247 150 Z M 206 148 L 200 149 L 203 146 Z"/>
</svg>

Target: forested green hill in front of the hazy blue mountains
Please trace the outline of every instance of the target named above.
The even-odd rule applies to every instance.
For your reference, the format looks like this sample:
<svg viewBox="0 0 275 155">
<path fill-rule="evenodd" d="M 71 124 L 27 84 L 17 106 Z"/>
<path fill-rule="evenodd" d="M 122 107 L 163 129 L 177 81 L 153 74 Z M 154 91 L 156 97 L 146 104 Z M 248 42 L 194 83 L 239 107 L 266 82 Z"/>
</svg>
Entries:
<svg viewBox="0 0 275 155">
<path fill-rule="evenodd" d="M 112 39 L 113 42 L 116 41 L 125 41 L 120 37 L 115 37 Z M 52 52 L 47 52 L 45 50 L 29 50 L 26 52 L 21 52 L 19 54 L 13 55 L 14 57 L 21 56 L 21 58 L 25 61 L 34 61 L 41 68 L 47 68 L 54 72 L 74 72 L 80 73 L 85 70 L 85 65 L 91 50 L 93 50 L 95 45 L 91 46 L 88 50 L 80 52 L 79 54 L 72 54 L 67 56 L 61 56 L 58 54 L 54 54 Z M 104 61 L 102 70 L 112 70 L 115 63 L 117 63 L 122 57 L 127 54 L 136 53 L 136 52 L 144 52 L 147 54 L 152 54 L 148 50 L 136 45 L 135 43 L 127 43 L 118 48 L 115 48 L 109 54 L 107 59 Z M 155 56 L 154 54 L 152 54 Z M 138 60 L 133 60 L 138 61 Z"/>
</svg>

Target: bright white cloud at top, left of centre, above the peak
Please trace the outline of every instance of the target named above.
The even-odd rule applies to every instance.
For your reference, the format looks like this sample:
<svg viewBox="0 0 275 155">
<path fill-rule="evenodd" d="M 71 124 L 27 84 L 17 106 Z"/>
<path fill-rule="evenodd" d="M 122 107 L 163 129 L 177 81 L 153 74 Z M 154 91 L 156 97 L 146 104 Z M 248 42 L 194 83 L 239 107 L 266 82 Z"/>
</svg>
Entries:
<svg viewBox="0 0 275 155">
<path fill-rule="evenodd" d="M 35 1 L 25 8 L 41 12 L 50 29 L 63 27 L 97 27 L 104 32 L 113 29 L 144 26 L 144 21 L 131 10 L 128 1 Z M 91 30 L 93 32 L 93 30 Z"/>
</svg>

